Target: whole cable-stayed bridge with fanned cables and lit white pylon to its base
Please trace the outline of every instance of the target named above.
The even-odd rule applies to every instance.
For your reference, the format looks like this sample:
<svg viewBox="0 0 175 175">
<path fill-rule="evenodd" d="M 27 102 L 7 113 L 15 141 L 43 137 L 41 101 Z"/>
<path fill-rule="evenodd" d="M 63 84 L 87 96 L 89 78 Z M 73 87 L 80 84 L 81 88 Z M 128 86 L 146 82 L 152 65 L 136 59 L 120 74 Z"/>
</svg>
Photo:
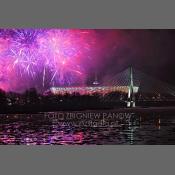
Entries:
<svg viewBox="0 0 175 175">
<path fill-rule="evenodd" d="M 105 82 L 106 86 L 127 87 L 128 107 L 135 106 L 135 94 L 166 94 L 175 97 L 175 87 L 129 67 Z"/>
</svg>

